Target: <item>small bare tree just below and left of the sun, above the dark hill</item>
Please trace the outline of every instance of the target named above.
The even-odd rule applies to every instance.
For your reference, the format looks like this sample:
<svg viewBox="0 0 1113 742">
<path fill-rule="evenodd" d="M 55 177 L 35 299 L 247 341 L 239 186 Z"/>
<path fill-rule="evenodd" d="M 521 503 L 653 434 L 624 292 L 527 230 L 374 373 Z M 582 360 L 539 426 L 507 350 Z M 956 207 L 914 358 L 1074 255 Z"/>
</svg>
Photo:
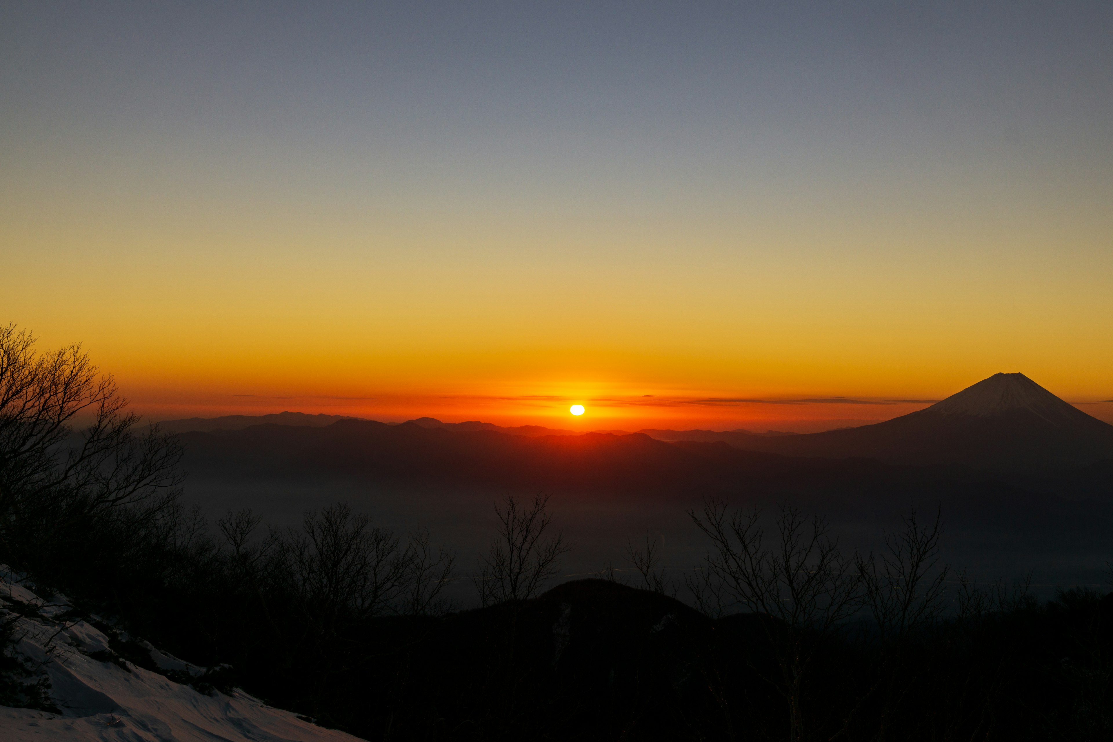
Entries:
<svg viewBox="0 0 1113 742">
<path fill-rule="evenodd" d="M 535 597 L 558 573 L 560 557 L 572 545 L 562 533 L 552 533 L 548 504 L 548 495 L 536 495 L 529 504 L 506 497 L 495 505 L 498 535 L 473 575 L 483 605 Z"/>
</svg>

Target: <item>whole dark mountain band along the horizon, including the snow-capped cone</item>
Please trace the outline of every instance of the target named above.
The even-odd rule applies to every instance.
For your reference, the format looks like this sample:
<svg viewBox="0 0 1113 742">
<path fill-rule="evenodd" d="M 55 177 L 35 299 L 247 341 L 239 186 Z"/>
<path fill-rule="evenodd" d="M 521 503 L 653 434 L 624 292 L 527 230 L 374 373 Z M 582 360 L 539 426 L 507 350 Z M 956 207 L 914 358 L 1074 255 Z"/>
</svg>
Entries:
<svg viewBox="0 0 1113 742">
<path fill-rule="evenodd" d="M 401 425 L 344 419 L 326 427 L 267 424 L 187 433 L 184 439 L 191 468 L 216 466 L 240 475 L 332 473 L 613 492 L 725 491 L 740 483 L 809 488 L 820 482 L 864 484 L 864 476 L 907 483 L 929 476 L 918 469 L 925 466 L 1056 472 L 1113 458 L 1113 426 L 1022 374 L 997 374 L 885 423 L 806 435 L 730 432 L 718 434 L 729 441 L 668 442 L 642 433 L 545 435 L 544 428 L 493 427 L 432 418 Z"/>
</svg>

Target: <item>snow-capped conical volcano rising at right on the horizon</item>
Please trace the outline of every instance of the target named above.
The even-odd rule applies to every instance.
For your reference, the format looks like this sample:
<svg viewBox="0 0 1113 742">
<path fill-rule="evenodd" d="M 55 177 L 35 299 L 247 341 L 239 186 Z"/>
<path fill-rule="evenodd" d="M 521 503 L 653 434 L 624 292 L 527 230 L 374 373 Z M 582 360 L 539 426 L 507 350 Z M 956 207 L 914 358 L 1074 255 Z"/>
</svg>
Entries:
<svg viewBox="0 0 1113 742">
<path fill-rule="evenodd" d="M 794 456 L 1032 472 L 1113 458 L 1113 425 L 1063 402 L 1024 374 L 994 374 L 926 409 L 885 423 L 731 443 Z"/>
</svg>

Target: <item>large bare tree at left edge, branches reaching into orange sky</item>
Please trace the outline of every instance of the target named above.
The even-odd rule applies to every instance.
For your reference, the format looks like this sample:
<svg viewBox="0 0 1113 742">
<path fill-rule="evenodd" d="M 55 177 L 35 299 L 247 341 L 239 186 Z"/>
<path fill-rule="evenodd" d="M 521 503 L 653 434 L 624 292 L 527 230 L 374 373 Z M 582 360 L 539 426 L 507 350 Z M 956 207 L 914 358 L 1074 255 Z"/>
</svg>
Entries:
<svg viewBox="0 0 1113 742">
<path fill-rule="evenodd" d="M 0 546 L 49 552 L 78 523 L 165 516 L 184 478 L 177 438 L 139 428 L 80 345 L 35 346 L 0 327 Z M 89 424 L 77 434 L 79 419 Z"/>
</svg>

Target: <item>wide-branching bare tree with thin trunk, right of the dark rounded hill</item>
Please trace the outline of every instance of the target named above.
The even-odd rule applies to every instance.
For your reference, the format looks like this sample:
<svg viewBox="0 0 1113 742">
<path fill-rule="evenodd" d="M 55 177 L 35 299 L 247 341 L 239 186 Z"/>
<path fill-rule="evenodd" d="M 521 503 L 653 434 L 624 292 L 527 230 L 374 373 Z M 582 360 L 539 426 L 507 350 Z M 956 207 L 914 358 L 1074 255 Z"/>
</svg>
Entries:
<svg viewBox="0 0 1113 742">
<path fill-rule="evenodd" d="M 778 676 L 767 680 L 788 703 L 790 739 L 807 739 L 804 703 L 816 652 L 860 605 L 854 560 L 841 553 L 825 521 L 808 520 L 790 505 L 777 513 L 769 545 L 757 508 L 728 515 L 725 502 L 709 499 L 702 515 L 689 515 L 711 541 L 705 582 L 729 604 L 764 619 L 778 667 Z"/>
</svg>

